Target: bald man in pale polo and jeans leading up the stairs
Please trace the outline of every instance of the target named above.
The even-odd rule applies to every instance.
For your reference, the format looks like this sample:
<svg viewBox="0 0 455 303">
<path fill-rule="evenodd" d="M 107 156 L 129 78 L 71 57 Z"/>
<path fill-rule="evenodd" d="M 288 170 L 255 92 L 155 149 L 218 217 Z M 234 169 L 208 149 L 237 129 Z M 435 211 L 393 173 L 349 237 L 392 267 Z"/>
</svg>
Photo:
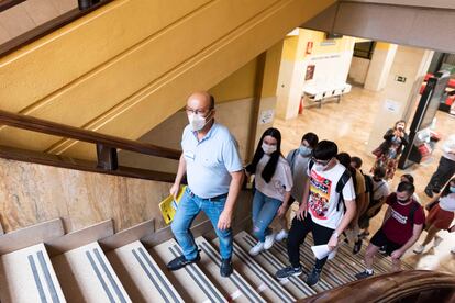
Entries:
<svg viewBox="0 0 455 303">
<path fill-rule="evenodd" d="M 167 268 L 178 270 L 200 260 L 190 227 L 203 211 L 220 239 L 220 274 L 229 277 L 233 271 L 231 223 L 244 175 L 237 143 L 226 127 L 214 122 L 214 99 L 208 92 L 192 93 L 186 112 L 189 125 L 184 130 L 182 154 L 170 188 L 170 194 L 176 197 L 187 173 L 188 187 L 171 223 L 184 254 L 167 263 Z"/>
</svg>

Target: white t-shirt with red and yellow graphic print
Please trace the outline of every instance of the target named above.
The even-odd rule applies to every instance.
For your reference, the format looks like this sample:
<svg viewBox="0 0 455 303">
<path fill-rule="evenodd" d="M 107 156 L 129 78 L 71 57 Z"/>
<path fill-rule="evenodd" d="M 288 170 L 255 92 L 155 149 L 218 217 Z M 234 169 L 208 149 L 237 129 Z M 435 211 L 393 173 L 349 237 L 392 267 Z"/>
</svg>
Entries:
<svg viewBox="0 0 455 303">
<path fill-rule="evenodd" d="M 315 171 L 314 166 L 310 176 L 310 195 L 308 198 L 308 210 L 314 223 L 335 229 L 344 215 L 343 202 L 339 210 L 336 205 L 340 201 L 340 194 L 336 192 L 336 184 L 346 168 L 337 162 L 333 168 L 326 171 Z M 343 188 L 343 198 L 355 203 L 355 190 L 353 179 L 349 178 Z"/>
</svg>

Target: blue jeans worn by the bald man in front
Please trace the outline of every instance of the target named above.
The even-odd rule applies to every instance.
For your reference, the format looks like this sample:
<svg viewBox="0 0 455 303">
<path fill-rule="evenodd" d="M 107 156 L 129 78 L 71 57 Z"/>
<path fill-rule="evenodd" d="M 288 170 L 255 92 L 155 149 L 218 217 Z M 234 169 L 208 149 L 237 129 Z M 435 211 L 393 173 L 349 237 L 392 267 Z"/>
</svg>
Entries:
<svg viewBox="0 0 455 303">
<path fill-rule="evenodd" d="M 188 188 L 185 191 L 184 197 L 178 204 L 170 228 L 173 229 L 174 236 L 180 245 L 187 260 L 192 260 L 198 256 L 198 246 L 195 243 L 190 227 L 192 221 L 200 211 L 203 211 L 209 217 L 220 239 L 221 258 L 231 259 L 233 249 L 232 229 L 220 231 L 217 227 L 218 220 L 220 218 L 221 212 L 224 210 L 225 202 L 226 198 L 202 199 L 191 193 Z"/>
</svg>

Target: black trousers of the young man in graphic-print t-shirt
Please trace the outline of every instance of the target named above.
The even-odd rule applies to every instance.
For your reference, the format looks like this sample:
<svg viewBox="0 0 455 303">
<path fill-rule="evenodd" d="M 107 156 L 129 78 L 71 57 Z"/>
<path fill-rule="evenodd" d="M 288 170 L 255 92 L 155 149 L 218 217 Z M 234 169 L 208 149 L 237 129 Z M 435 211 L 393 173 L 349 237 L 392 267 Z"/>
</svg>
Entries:
<svg viewBox="0 0 455 303">
<path fill-rule="evenodd" d="M 292 225 L 288 235 L 288 256 L 292 267 L 300 267 L 300 245 L 303 244 L 308 233 L 312 233 L 314 245 L 328 244 L 332 237 L 334 229 L 321 226 L 311 220 L 311 215 L 307 214 L 304 221 L 299 221 L 297 216 L 292 220 Z M 322 270 L 328 258 L 322 260 L 315 259 L 314 267 Z"/>
</svg>

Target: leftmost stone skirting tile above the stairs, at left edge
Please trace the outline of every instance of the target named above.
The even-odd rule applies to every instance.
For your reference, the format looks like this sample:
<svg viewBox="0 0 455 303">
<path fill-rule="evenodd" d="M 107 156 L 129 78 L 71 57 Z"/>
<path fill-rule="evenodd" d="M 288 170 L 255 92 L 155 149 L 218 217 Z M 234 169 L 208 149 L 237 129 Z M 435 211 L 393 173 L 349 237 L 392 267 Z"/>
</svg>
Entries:
<svg viewBox="0 0 455 303">
<path fill-rule="evenodd" d="M 0 255 L 19 250 L 38 243 L 47 243 L 65 234 L 62 220 L 54 218 L 0 236 Z"/>
</svg>

